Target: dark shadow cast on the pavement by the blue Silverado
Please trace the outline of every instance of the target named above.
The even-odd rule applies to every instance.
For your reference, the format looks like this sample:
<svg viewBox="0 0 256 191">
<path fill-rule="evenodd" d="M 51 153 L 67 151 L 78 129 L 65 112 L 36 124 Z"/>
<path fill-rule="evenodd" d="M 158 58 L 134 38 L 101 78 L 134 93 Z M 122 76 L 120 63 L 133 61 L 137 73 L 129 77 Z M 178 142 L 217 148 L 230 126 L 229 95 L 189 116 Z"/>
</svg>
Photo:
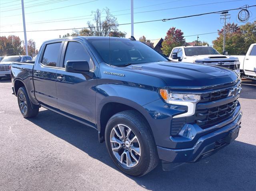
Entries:
<svg viewBox="0 0 256 191">
<path fill-rule="evenodd" d="M 65 140 L 92 158 L 112 168 L 105 144 L 97 131 L 50 110 L 40 111 L 34 124 Z M 256 146 L 234 141 L 213 156 L 190 163 L 175 171 L 162 171 L 161 165 L 143 177 L 130 177 L 138 185 L 158 190 L 255 190 Z"/>
</svg>

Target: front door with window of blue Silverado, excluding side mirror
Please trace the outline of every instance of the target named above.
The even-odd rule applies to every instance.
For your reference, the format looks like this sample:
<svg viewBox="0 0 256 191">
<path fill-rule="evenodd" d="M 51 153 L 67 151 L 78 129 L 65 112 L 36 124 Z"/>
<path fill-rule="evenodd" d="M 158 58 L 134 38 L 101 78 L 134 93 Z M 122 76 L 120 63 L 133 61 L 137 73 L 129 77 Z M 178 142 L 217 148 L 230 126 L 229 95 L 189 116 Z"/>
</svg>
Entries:
<svg viewBox="0 0 256 191">
<path fill-rule="evenodd" d="M 83 75 L 66 72 L 67 61 L 87 61 L 90 73 Z M 82 40 L 73 39 L 65 42 L 56 78 L 59 109 L 64 114 L 94 126 L 97 85 L 95 65 Z"/>
</svg>

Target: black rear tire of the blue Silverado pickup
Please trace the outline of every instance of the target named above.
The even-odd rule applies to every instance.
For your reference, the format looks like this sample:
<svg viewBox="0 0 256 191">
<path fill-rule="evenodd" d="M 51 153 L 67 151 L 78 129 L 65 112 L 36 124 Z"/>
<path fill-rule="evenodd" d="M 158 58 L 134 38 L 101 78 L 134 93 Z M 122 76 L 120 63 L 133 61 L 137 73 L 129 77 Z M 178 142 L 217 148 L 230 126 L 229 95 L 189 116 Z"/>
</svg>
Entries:
<svg viewBox="0 0 256 191">
<path fill-rule="evenodd" d="M 22 95 L 24 95 L 24 96 L 22 96 Z M 18 106 L 20 108 L 20 112 L 24 116 L 24 118 L 32 118 L 32 117 L 37 116 L 39 108 L 35 108 L 35 109 L 32 108 L 30 99 L 28 97 L 28 93 L 27 93 L 25 87 L 20 87 L 18 89 L 17 98 L 18 98 Z M 24 99 L 24 100 L 22 100 L 22 99 Z M 24 104 L 22 104 L 22 102 Z M 24 105 L 26 105 L 26 110 L 24 109 Z M 23 106 L 23 108 L 22 108 L 22 106 Z"/>
</svg>

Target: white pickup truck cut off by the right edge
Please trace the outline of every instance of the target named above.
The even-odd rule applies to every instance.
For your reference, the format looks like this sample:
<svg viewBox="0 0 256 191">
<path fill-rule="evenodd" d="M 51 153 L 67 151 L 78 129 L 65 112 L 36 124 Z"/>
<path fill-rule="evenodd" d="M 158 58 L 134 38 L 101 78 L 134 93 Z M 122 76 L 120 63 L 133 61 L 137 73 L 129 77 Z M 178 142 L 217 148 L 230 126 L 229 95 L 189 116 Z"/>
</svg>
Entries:
<svg viewBox="0 0 256 191">
<path fill-rule="evenodd" d="M 256 43 L 251 44 L 245 56 L 235 56 L 240 61 L 241 77 L 256 80 Z"/>
</svg>

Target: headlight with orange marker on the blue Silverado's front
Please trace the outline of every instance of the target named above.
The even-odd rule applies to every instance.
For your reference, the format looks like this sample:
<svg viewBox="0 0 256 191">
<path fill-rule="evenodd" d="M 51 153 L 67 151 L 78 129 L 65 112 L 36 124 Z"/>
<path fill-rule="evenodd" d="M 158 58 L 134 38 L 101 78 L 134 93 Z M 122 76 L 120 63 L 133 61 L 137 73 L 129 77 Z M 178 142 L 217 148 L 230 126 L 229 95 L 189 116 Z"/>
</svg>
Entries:
<svg viewBox="0 0 256 191">
<path fill-rule="evenodd" d="M 161 97 L 169 104 L 188 106 L 188 111 L 173 118 L 191 116 L 195 114 L 196 103 L 200 101 L 201 96 L 196 94 L 168 93 L 166 89 L 160 89 Z"/>
</svg>

